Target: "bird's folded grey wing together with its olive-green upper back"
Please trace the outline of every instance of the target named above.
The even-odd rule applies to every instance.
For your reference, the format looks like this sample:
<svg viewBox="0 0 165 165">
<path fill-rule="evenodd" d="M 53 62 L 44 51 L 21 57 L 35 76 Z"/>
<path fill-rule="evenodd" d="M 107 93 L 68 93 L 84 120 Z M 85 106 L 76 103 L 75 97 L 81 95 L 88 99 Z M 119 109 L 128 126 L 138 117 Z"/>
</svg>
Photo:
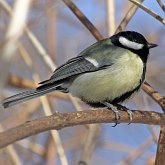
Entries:
<svg viewBox="0 0 165 165">
<path fill-rule="evenodd" d="M 68 60 L 66 63 L 58 67 L 50 79 L 43 81 L 40 84 L 45 85 L 48 83 L 54 83 L 84 72 L 105 69 L 113 64 L 113 60 L 110 61 L 109 56 L 115 52 L 116 47 L 111 44 L 109 39 L 97 42 L 81 52 L 79 56 Z M 88 58 L 95 60 L 96 62 L 99 61 L 98 66 L 94 65 L 94 63 L 88 60 Z"/>
</svg>

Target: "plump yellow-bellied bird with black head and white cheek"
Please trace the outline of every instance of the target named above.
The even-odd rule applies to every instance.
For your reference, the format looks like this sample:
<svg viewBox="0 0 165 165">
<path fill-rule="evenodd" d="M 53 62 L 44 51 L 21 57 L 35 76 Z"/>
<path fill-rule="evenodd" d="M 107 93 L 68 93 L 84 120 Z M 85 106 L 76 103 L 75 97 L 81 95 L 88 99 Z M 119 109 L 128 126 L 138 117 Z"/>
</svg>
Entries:
<svg viewBox="0 0 165 165">
<path fill-rule="evenodd" d="M 149 49 L 156 46 L 140 33 L 120 32 L 68 60 L 36 89 L 6 98 L 3 106 L 7 108 L 58 90 L 70 92 L 91 106 L 111 108 L 118 120 L 119 112 L 114 107 L 139 90 L 145 78 Z"/>
</svg>

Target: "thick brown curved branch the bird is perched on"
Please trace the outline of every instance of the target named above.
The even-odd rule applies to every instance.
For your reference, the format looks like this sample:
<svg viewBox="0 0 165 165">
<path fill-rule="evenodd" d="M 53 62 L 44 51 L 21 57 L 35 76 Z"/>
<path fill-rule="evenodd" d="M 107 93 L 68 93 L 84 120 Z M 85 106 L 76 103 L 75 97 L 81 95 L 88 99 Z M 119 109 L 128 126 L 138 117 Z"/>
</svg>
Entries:
<svg viewBox="0 0 165 165">
<path fill-rule="evenodd" d="M 129 123 L 127 112 L 121 110 L 119 110 L 119 112 L 121 115 L 120 122 Z M 56 112 L 51 116 L 32 120 L 0 133 L 0 148 L 6 147 L 9 144 L 31 135 L 36 135 L 52 129 L 59 130 L 76 125 L 113 122 L 115 122 L 115 115 L 113 111 L 107 110 L 106 108 L 81 112 Z M 132 123 L 165 125 L 165 115 L 157 112 L 136 110 L 133 111 Z"/>
</svg>

